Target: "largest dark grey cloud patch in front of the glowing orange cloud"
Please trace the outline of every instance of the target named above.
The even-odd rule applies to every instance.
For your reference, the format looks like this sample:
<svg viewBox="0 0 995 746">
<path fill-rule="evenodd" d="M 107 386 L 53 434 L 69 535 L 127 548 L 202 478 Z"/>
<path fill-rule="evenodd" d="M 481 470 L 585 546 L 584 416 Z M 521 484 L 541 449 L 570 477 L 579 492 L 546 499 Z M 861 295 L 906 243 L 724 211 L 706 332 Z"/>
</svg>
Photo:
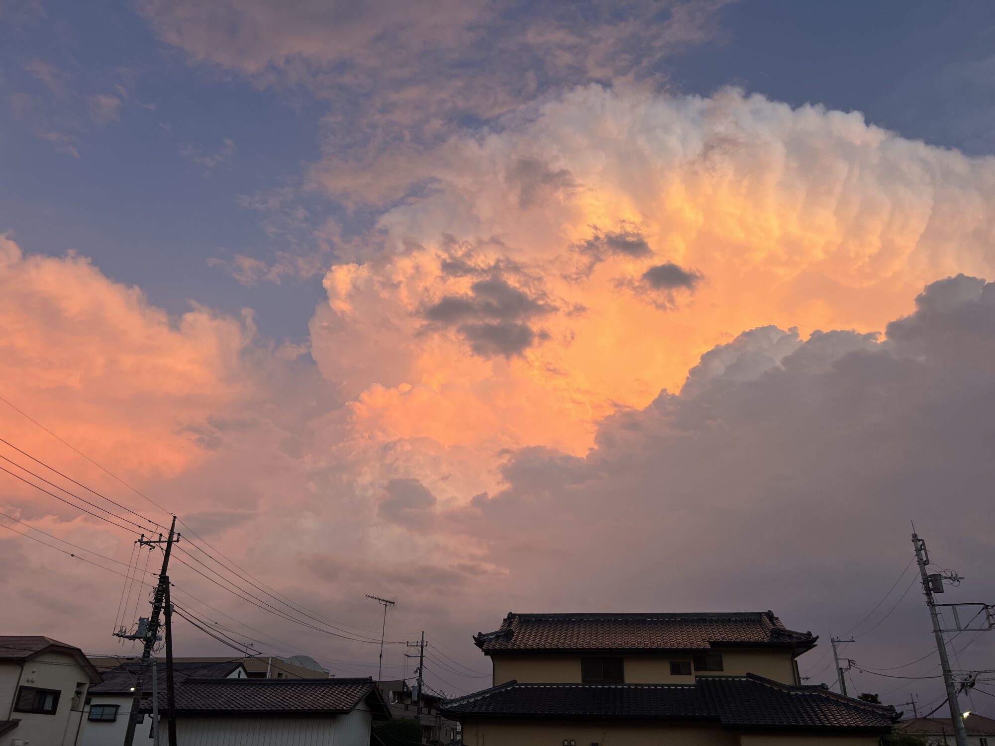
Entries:
<svg viewBox="0 0 995 746">
<path fill-rule="evenodd" d="M 529 321 L 555 307 L 541 293 L 529 294 L 500 276 L 478 280 L 466 295 L 447 295 L 422 315 L 437 327 L 455 328 L 478 355 L 512 357 L 522 354 L 545 332 Z"/>
</svg>

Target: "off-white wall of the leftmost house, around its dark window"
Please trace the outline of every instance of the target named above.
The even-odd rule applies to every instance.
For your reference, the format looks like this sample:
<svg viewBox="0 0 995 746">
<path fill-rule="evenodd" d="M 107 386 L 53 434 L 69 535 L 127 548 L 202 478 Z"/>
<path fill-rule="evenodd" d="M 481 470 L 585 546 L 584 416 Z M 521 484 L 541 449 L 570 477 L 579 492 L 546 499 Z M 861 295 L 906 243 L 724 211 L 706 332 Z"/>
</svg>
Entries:
<svg viewBox="0 0 995 746">
<path fill-rule="evenodd" d="M 12 711 L 21 686 L 56 689 L 61 692 L 54 715 Z M 77 684 L 83 694 L 76 696 Z M 43 653 L 24 663 L 0 665 L 0 720 L 20 719 L 21 723 L 6 737 L 20 739 L 30 746 L 73 746 L 83 715 L 83 702 L 90 686 L 90 673 L 72 655 Z"/>
</svg>

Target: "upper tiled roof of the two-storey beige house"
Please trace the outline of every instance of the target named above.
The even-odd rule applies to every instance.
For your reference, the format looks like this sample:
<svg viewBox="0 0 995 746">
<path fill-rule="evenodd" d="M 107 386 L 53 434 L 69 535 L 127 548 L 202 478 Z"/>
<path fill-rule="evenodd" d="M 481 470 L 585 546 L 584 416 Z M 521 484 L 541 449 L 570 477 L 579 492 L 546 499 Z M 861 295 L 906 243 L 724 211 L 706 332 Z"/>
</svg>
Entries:
<svg viewBox="0 0 995 746">
<path fill-rule="evenodd" d="M 785 629 L 772 612 L 738 614 L 513 614 L 474 642 L 500 651 L 703 650 L 712 645 L 811 648 L 811 633 Z"/>
</svg>

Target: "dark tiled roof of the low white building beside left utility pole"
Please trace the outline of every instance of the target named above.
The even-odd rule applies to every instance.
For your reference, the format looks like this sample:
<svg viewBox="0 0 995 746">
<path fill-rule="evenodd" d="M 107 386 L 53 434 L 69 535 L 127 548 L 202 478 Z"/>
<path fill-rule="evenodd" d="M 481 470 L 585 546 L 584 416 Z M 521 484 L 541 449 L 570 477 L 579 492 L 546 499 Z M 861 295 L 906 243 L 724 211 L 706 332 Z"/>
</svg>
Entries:
<svg viewBox="0 0 995 746">
<path fill-rule="evenodd" d="M 165 692 L 159 692 L 165 706 Z M 373 679 L 365 678 L 186 678 L 176 684 L 176 711 L 208 713 L 296 713 L 337 715 L 363 700 L 374 713 L 386 705 Z M 143 706 L 146 709 L 146 706 Z"/>
</svg>

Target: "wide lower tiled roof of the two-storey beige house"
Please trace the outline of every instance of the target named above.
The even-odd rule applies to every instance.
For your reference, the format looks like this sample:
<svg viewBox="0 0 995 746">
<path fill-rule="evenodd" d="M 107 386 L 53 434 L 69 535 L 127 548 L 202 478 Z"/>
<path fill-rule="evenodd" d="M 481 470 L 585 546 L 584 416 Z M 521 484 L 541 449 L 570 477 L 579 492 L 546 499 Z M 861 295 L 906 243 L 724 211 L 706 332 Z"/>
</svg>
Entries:
<svg viewBox="0 0 995 746">
<path fill-rule="evenodd" d="M 890 730 L 894 707 L 789 686 L 762 676 L 708 676 L 694 684 L 560 684 L 509 681 L 450 699 L 443 712 L 477 717 L 712 720 L 726 727 Z"/>
</svg>

